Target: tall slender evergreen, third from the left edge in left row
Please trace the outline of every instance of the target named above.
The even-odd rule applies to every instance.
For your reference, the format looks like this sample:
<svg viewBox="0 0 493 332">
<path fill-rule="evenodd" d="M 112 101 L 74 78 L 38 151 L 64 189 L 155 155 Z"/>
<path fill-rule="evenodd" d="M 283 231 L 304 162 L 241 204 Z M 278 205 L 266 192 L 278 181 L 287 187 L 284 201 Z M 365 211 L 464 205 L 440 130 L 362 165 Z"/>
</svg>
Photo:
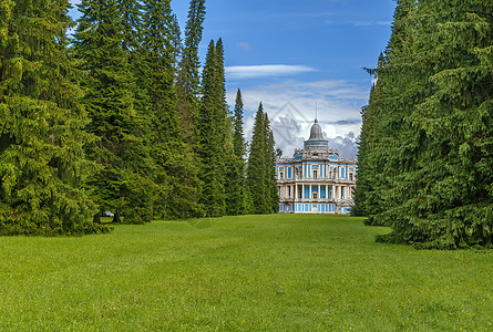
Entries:
<svg viewBox="0 0 493 332">
<path fill-rule="evenodd" d="M 157 205 L 164 217 L 197 214 L 198 178 L 178 126 L 174 86 L 174 15 L 170 0 L 147 0 L 143 15 L 142 76 L 151 101 L 151 152 L 156 165 Z"/>
</svg>

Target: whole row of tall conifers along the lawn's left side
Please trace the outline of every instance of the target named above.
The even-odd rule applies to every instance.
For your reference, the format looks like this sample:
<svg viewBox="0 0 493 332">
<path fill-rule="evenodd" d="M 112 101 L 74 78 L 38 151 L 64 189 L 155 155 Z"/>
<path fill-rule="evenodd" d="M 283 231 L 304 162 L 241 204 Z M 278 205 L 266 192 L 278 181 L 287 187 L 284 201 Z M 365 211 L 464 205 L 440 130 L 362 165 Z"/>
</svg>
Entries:
<svg viewBox="0 0 493 332">
<path fill-rule="evenodd" d="M 276 211 L 268 116 L 248 148 L 222 39 L 201 73 L 205 0 L 183 33 L 170 0 L 78 7 L 72 22 L 68 0 L 0 0 L 0 234 Z"/>
</svg>

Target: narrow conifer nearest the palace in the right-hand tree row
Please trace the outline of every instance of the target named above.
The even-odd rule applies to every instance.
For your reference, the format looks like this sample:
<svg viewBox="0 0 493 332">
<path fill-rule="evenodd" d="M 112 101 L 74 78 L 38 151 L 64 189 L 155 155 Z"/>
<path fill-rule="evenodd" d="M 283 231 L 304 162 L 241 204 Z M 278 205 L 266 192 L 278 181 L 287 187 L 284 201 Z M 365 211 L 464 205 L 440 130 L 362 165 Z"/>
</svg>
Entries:
<svg viewBox="0 0 493 332">
<path fill-rule="evenodd" d="M 393 68 L 389 62 L 399 54 L 413 52 L 414 8 L 414 0 L 398 1 L 392 34 L 384 54 L 379 56 L 374 71 L 376 84 L 370 93 L 369 105 L 362 113 L 353 214 L 367 215 L 367 225 L 387 222 L 388 219 L 376 216 L 387 209 L 387 204 L 394 201 L 394 194 L 387 197 L 384 193 L 387 188 L 394 188 L 390 179 L 402 172 L 398 160 L 401 152 L 396 143 L 405 139 L 401 135 L 405 136 L 404 133 L 409 129 L 405 122 L 409 107 L 403 105 L 410 103 L 413 96 L 408 89 L 409 81 L 403 79 L 410 74 L 409 66 L 403 64 Z M 408 77 L 411 80 L 411 76 Z M 401 98 L 392 97 L 394 95 L 400 95 Z M 404 153 L 402 157 L 408 158 L 408 163 L 411 162 L 410 154 Z"/>
</svg>

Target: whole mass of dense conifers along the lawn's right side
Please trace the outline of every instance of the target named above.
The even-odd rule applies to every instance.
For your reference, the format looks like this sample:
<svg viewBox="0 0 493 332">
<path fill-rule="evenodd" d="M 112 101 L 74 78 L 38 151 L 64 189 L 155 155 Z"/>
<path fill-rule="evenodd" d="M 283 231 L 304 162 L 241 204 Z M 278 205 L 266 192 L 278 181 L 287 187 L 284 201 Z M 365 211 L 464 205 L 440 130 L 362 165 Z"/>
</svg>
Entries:
<svg viewBox="0 0 493 332">
<path fill-rule="evenodd" d="M 399 0 L 362 110 L 353 214 L 418 248 L 493 242 L 493 1 Z"/>
</svg>

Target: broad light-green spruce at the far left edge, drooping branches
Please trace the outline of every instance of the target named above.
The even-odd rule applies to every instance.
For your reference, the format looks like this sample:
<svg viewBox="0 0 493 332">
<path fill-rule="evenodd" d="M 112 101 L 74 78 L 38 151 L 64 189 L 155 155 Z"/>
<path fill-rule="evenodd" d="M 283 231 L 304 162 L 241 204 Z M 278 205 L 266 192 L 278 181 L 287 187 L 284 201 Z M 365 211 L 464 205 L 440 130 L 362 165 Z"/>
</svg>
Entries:
<svg viewBox="0 0 493 332">
<path fill-rule="evenodd" d="M 95 206 L 86 114 L 69 81 L 68 1 L 0 1 L 0 234 L 80 235 Z"/>
</svg>

